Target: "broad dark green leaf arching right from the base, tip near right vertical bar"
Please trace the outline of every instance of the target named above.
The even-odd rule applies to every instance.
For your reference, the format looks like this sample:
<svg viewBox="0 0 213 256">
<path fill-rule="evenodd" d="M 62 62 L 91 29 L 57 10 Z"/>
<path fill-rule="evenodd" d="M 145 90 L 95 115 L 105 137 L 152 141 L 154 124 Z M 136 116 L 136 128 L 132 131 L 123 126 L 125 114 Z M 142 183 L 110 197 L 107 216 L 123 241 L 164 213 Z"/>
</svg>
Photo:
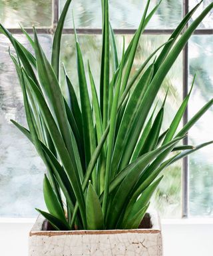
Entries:
<svg viewBox="0 0 213 256">
<path fill-rule="evenodd" d="M 128 173 L 126 173 L 124 179 L 120 183 L 118 190 L 116 191 L 116 195 L 114 196 L 114 199 L 112 201 L 110 209 L 110 221 L 108 222 L 109 229 L 112 228 L 118 221 L 121 209 L 123 208 L 126 202 L 128 194 L 136 184 L 136 181 L 138 180 L 140 173 L 142 173 L 144 169 L 146 169 L 148 164 L 151 161 L 153 161 L 156 157 L 158 157 L 160 153 L 164 152 L 169 147 L 178 143 L 180 139 L 182 138 L 174 139 L 170 143 L 167 143 L 166 145 L 163 145 L 158 149 L 154 149 L 154 151 L 150 151 L 149 153 L 146 153 L 145 155 L 136 160 L 136 164 L 132 167 L 132 169 L 130 169 Z"/>
</svg>

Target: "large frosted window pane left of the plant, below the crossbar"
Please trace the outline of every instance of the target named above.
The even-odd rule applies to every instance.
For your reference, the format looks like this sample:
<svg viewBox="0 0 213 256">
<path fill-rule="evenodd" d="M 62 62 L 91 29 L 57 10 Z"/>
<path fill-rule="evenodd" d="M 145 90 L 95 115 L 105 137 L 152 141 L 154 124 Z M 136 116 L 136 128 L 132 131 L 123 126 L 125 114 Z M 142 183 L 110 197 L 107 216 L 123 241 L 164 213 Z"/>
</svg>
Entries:
<svg viewBox="0 0 213 256">
<path fill-rule="evenodd" d="M 16 37 L 29 45 L 20 35 Z M 45 52 L 51 47 L 51 37 L 40 35 Z M 11 123 L 10 119 L 25 127 L 25 111 L 21 87 L 15 67 L 8 54 L 9 41 L 0 37 L 0 216 L 33 217 L 35 207 L 44 207 L 44 164 L 33 145 Z"/>
</svg>

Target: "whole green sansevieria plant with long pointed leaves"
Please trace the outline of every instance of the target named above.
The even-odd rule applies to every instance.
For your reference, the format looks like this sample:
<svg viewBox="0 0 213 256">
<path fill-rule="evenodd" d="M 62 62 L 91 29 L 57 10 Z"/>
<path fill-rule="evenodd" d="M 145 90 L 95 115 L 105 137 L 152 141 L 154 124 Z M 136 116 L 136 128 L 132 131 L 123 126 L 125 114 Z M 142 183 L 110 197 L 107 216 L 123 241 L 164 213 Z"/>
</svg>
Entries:
<svg viewBox="0 0 213 256">
<path fill-rule="evenodd" d="M 55 30 L 51 61 L 39 43 L 35 28 L 34 37 L 22 28 L 33 47 L 33 55 L 0 25 L 1 33 L 15 49 L 16 54 L 9 51 L 9 55 L 23 91 L 28 128 L 11 121 L 33 143 L 47 167 L 43 193 L 49 213 L 37 211 L 57 230 L 138 228 L 162 179 L 162 170 L 212 143 L 197 147 L 181 145 L 188 130 L 212 106 L 213 99 L 178 130 L 191 87 L 166 131 L 161 129 L 166 95 L 159 111 L 154 99 L 170 67 L 213 3 L 186 27 L 200 3 L 196 5 L 170 39 L 132 74 L 138 41 L 160 3 L 148 13 L 150 1 L 147 1 L 134 37 L 128 47 L 123 40 L 122 55 L 118 57 L 108 1 L 102 0 L 99 93 L 75 33 L 79 77 L 75 86 L 79 87 L 80 95 L 75 92 L 65 67 L 60 70 L 61 35 L 70 4 L 71 0 L 65 3 Z M 67 95 L 61 90 L 60 72 L 65 75 Z"/>
</svg>

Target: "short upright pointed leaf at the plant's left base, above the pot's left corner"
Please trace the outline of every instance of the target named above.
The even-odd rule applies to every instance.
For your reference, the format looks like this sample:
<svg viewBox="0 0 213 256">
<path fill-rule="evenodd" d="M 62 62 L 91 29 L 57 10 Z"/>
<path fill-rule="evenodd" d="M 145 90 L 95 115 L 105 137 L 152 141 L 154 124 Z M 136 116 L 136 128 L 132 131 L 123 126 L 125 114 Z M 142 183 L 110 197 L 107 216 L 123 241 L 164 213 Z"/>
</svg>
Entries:
<svg viewBox="0 0 213 256">
<path fill-rule="evenodd" d="M 49 182 L 47 175 L 45 175 L 43 181 L 43 193 L 49 213 L 51 213 L 53 216 L 57 217 L 58 219 L 61 219 L 61 221 L 66 223 L 67 221 L 65 218 L 65 213 L 63 211 L 63 208 L 61 207 L 61 204 L 59 203 L 59 200 L 57 199 L 57 196 L 55 195 L 51 187 L 51 183 Z"/>
</svg>

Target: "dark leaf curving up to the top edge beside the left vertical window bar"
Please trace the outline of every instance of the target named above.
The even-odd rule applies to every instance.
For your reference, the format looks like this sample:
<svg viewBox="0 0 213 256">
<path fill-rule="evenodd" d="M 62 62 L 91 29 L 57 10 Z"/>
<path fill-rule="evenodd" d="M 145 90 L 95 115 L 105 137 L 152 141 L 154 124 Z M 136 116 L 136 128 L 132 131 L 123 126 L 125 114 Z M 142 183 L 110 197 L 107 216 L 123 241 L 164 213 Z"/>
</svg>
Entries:
<svg viewBox="0 0 213 256">
<path fill-rule="evenodd" d="M 51 65 L 55 72 L 57 79 L 59 80 L 59 66 L 60 66 L 60 48 L 61 48 L 61 35 L 65 23 L 65 18 L 67 16 L 67 11 L 71 4 L 72 0 L 67 0 L 63 11 L 61 13 L 61 17 L 59 19 L 55 35 L 53 37 L 53 49 L 52 49 L 52 57 L 51 57 Z"/>
</svg>

